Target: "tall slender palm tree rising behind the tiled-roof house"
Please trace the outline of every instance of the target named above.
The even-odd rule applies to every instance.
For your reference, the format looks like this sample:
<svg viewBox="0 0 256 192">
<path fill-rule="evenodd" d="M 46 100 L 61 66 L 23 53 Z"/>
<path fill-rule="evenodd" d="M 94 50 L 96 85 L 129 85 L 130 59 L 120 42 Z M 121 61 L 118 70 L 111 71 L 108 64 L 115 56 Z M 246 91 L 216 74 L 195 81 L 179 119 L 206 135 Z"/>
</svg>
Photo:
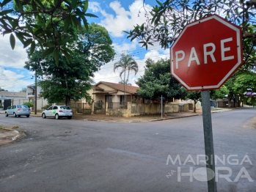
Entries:
<svg viewBox="0 0 256 192">
<path fill-rule="evenodd" d="M 124 74 L 122 81 L 124 83 L 123 90 L 125 92 L 125 84 L 127 84 L 127 82 L 128 82 L 130 70 L 134 70 L 135 75 L 136 75 L 136 73 L 139 70 L 139 67 L 138 67 L 138 64 L 135 62 L 134 58 L 132 58 L 130 55 L 125 55 L 125 54 L 122 54 L 121 59 L 118 62 L 114 63 L 114 72 L 115 72 L 115 70 L 118 70 L 119 67 L 122 68 L 122 70 L 120 72 L 121 79 L 122 79 L 122 74 Z M 128 70 L 127 79 L 125 79 L 126 70 Z M 126 93 L 125 93 L 124 101 L 126 101 Z"/>
</svg>

